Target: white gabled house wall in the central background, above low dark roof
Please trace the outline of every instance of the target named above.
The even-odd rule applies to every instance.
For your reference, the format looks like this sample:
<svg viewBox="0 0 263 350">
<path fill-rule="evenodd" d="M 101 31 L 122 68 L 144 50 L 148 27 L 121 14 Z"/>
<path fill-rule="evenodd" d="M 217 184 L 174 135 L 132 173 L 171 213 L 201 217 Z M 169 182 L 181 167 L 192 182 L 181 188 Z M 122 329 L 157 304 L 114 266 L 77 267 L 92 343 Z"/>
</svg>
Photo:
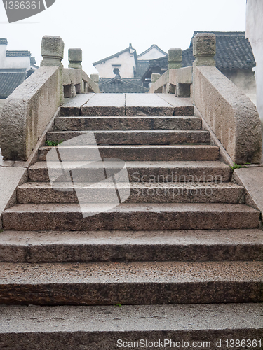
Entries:
<svg viewBox="0 0 263 350">
<path fill-rule="evenodd" d="M 132 50 L 133 51 L 133 50 Z M 114 78 L 114 65 L 118 66 L 121 78 L 133 78 L 133 68 L 135 68 L 135 58 L 130 51 L 123 52 L 119 57 L 113 57 L 107 61 L 97 64 L 95 67 L 100 78 Z"/>
</svg>

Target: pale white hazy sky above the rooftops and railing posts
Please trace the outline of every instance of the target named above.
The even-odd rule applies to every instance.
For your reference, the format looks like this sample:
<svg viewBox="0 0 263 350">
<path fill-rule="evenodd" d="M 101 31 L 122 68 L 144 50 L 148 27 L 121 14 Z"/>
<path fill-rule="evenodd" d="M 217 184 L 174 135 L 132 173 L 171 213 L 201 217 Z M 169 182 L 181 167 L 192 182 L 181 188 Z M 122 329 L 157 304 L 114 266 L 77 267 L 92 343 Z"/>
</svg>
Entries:
<svg viewBox="0 0 263 350">
<path fill-rule="evenodd" d="M 128 48 L 139 55 L 153 43 L 162 50 L 189 48 L 194 30 L 245 31 L 245 0 L 56 0 L 34 17 L 9 24 L 0 3 L 0 37 L 8 50 L 29 50 L 41 61 L 41 38 L 61 36 L 67 50 L 83 50 L 83 69 Z"/>
</svg>

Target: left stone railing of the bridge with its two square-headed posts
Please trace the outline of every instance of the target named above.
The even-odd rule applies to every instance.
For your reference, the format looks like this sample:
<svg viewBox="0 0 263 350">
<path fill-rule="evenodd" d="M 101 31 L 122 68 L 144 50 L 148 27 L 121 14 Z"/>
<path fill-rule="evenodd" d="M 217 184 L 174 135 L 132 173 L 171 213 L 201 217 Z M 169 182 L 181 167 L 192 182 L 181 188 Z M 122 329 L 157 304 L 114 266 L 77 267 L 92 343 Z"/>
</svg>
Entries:
<svg viewBox="0 0 263 350">
<path fill-rule="evenodd" d="M 69 49 L 69 68 L 62 66 L 64 43 L 59 36 L 44 36 L 43 61 L 6 99 L 0 118 L 0 146 L 5 160 L 26 161 L 65 97 L 100 92 L 82 71 L 81 49 Z"/>
</svg>

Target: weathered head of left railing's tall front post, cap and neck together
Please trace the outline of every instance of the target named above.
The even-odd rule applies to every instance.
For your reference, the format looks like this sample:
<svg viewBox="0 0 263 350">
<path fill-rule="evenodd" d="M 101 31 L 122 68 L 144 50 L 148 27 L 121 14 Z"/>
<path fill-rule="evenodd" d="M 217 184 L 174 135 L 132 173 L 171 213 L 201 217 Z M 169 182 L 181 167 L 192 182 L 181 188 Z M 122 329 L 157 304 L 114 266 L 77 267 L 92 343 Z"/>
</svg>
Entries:
<svg viewBox="0 0 263 350">
<path fill-rule="evenodd" d="M 62 66 L 64 41 L 60 36 L 43 36 L 41 42 L 41 66 Z"/>
</svg>

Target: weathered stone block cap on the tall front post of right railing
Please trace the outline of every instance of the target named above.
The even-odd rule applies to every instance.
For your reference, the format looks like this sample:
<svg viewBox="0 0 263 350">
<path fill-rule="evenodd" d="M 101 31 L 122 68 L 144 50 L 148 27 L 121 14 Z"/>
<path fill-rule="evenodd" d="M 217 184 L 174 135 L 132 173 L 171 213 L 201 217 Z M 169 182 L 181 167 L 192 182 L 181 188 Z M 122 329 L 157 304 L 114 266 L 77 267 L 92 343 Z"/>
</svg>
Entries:
<svg viewBox="0 0 263 350">
<path fill-rule="evenodd" d="M 193 40 L 193 55 L 214 56 L 216 38 L 213 33 L 198 33 Z"/>
</svg>

